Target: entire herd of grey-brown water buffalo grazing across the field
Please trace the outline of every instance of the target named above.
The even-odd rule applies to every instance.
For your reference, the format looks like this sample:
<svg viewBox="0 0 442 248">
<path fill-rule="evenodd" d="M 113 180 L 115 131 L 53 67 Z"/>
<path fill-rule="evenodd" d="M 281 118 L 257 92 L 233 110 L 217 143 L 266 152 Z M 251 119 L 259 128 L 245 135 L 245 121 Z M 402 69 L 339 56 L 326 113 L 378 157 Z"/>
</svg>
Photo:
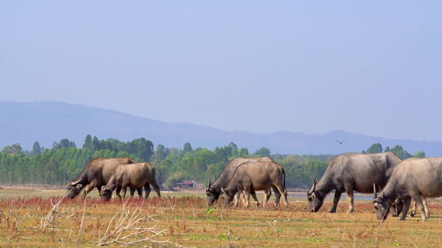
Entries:
<svg viewBox="0 0 442 248">
<path fill-rule="evenodd" d="M 401 161 L 392 152 L 377 154 L 345 153 L 330 161 L 324 176 L 307 192 L 310 211 L 318 211 L 324 198 L 334 190 L 333 207 L 336 207 L 343 192 L 347 192 L 349 200 L 348 212 L 354 211 L 353 192 L 374 193 L 373 205 L 378 220 L 385 220 L 390 209 L 392 216 L 401 212 L 401 220 L 405 220 L 410 209 L 411 200 L 421 209 L 422 219 L 429 217 L 426 197 L 442 196 L 442 158 L 408 158 Z M 145 198 L 151 192 L 151 186 L 160 196 L 160 187 L 155 180 L 155 167 L 150 163 L 137 163 L 131 158 L 94 158 L 77 178 L 68 184 L 66 197 L 75 198 L 84 189 L 84 196 L 95 187 L 104 200 L 109 200 L 115 190 L 119 198 L 126 196 L 129 188 L 131 196 L 135 189 L 142 196 L 144 187 Z M 103 187 L 103 188 L 102 188 Z M 263 190 L 265 207 L 271 196 L 271 188 L 278 205 L 287 206 L 287 190 L 285 189 L 285 169 L 269 157 L 236 158 L 229 161 L 221 174 L 206 187 L 207 203 L 212 205 L 220 197 L 227 205 L 234 199 L 238 206 L 243 194 L 244 203 L 249 207 L 250 195 L 256 206 L 260 205 L 256 190 Z M 123 196 L 120 192 L 123 191 Z"/>
</svg>

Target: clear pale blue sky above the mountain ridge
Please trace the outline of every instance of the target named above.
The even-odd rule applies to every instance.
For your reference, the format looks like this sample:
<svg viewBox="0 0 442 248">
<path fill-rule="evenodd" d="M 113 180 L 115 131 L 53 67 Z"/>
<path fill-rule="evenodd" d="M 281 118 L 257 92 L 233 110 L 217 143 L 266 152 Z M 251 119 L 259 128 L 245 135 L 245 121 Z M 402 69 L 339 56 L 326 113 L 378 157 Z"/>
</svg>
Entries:
<svg viewBox="0 0 442 248">
<path fill-rule="evenodd" d="M 442 1 L 0 1 L 0 101 L 227 131 L 442 141 L 441 10 Z"/>
</svg>

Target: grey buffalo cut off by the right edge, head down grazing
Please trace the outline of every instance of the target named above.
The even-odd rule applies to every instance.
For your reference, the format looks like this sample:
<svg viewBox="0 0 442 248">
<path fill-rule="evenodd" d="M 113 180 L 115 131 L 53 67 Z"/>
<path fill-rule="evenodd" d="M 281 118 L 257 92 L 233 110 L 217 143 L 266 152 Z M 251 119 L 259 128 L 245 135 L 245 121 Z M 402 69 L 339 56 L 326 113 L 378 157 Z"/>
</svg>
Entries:
<svg viewBox="0 0 442 248">
<path fill-rule="evenodd" d="M 390 205 L 398 197 L 404 198 L 401 220 L 407 217 L 411 198 L 421 210 L 422 220 L 428 213 L 422 197 L 442 196 L 442 158 L 408 158 L 399 163 L 385 188 L 377 194 L 374 187 L 373 206 L 376 218 L 385 220 Z"/>
</svg>

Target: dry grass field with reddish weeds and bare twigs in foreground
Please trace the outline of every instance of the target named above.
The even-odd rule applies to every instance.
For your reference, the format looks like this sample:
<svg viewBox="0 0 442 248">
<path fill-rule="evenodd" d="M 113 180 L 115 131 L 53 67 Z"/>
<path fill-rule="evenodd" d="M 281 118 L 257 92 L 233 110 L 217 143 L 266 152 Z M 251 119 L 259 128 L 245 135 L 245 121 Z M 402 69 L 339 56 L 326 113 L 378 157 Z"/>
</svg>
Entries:
<svg viewBox="0 0 442 248">
<path fill-rule="evenodd" d="M 162 198 L 103 202 L 61 199 L 64 190 L 0 189 L 0 247 L 439 247 L 441 203 L 431 218 L 376 220 L 372 202 L 347 201 L 329 214 L 331 200 L 310 213 L 307 197 L 289 207 L 208 207 L 204 192 L 162 192 Z M 169 195 L 169 197 L 167 197 Z M 260 195 L 262 197 L 262 195 Z M 273 201 L 273 196 L 271 198 Z M 418 210 L 420 213 L 420 211 Z"/>
</svg>

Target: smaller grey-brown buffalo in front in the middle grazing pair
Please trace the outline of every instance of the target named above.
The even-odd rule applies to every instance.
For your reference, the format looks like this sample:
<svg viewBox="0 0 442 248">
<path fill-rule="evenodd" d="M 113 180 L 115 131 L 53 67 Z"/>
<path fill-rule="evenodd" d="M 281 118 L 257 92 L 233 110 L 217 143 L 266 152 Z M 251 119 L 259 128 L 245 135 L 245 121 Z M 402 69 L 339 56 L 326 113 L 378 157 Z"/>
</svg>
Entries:
<svg viewBox="0 0 442 248">
<path fill-rule="evenodd" d="M 223 204 L 231 202 L 239 189 L 244 189 L 246 207 L 249 207 L 251 192 L 265 190 L 265 198 L 262 206 L 267 205 L 270 187 L 276 188 L 275 192 L 282 195 L 282 201 L 287 207 L 287 190 L 285 189 L 285 170 L 275 162 L 242 163 L 229 180 L 229 184 L 221 188 Z M 275 193 L 276 194 L 276 193 Z M 278 204 L 278 203 L 276 203 Z"/>
</svg>

